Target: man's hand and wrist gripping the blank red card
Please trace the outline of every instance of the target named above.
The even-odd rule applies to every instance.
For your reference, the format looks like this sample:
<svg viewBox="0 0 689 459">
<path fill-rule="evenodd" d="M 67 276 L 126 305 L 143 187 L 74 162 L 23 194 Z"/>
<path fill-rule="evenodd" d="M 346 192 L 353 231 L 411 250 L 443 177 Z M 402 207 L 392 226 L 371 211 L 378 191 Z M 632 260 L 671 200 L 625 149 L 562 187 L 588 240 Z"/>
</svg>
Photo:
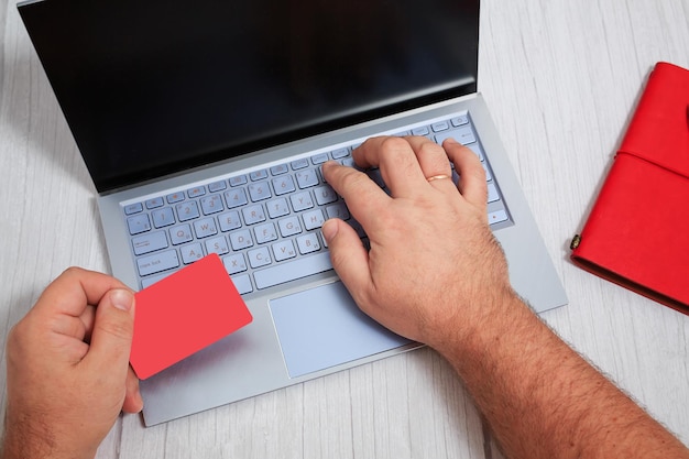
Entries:
<svg viewBox="0 0 689 459">
<path fill-rule="evenodd" d="M 129 367 L 134 295 L 69 269 L 10 331 L 2 458 L 92 458 L 121 411 L 140 412 Z"/>
</svg>

